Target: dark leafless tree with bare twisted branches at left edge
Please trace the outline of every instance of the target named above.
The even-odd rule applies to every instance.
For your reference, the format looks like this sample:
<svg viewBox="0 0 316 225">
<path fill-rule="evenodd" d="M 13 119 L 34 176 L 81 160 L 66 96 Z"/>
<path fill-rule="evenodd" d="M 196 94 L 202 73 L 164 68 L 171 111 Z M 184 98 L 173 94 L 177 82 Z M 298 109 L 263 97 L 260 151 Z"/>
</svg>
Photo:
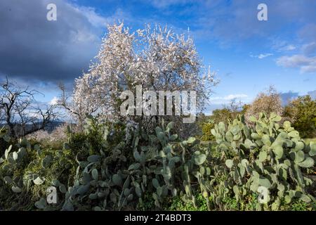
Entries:
<svg viewBox="0 0 316 225">
<path fill-rule="evenodd" d="M 32 134 L 58 118 L 55 105 L 36 105 L 35 94 L 39 91 L 21 88 L 8 78 L 0 84 L 0 123 L 8 127 L 11 136 Z"/>
</svg>

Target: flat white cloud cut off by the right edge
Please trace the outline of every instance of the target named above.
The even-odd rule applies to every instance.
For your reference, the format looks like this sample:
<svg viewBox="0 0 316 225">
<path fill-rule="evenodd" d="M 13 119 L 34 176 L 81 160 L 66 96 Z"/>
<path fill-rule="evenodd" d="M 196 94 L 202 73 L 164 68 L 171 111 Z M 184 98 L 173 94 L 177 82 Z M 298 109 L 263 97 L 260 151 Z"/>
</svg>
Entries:
<svg viewBox="0 0 316 225">
<path fill-rule="evenodd" d="M 277 59 L 277 65 L 284 68 L 300 68 L 301 72 L 316 72 L 316 57 L 304 55 L 282 56 Z"/>
</svg>

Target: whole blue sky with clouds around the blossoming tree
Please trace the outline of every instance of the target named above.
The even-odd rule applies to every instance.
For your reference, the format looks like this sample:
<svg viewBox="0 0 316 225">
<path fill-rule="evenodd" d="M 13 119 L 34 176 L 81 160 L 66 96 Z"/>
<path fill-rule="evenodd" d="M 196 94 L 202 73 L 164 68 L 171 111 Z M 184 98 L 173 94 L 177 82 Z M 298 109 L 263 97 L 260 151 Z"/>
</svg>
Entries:
<svg viewBox="0 0 316 225">
<path fill-rule="evenodd" d="M 48 3 L 56 4 L 57 21 L 46 20 Z M 261 3 L 268 21 L 257 19 Z M 51 101 L 58 82 L 71 86 L 87 70 L 105 24 L 117 20 L 135 30 L 145 23 L 190 29 L 204 65 L 220 79 L 208 111 L 235 97 L 249 103 L 270 85 L 283 96 L 316 96 L 316 1 L 309 0 L 4 0 L 0 76 Z"/>
</svg>

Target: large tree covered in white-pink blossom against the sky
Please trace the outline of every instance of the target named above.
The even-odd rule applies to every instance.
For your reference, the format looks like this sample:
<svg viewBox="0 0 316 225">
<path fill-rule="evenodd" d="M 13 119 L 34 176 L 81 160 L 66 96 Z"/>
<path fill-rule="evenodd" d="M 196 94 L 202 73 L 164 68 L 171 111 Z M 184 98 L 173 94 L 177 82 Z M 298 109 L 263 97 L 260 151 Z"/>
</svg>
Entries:
<svg viewBox="0 0 316 225">
<path fill-rule="evenodd" d="M 204 70 L 190 37 L 174 34 L 167 27 L 149 25 L 131 32 L 119 23 L 107 30 L 97 62 L 76 79 L 73 101 L 77 112 L 121 117 L 121 91 L 135 93 L 137 85 L 144 91 L 196 91 L 197 110 L 203 110 L 216 81 L 210 70 Z M 159 118 L 133 120 L 157 122 Z"/>
</svg>

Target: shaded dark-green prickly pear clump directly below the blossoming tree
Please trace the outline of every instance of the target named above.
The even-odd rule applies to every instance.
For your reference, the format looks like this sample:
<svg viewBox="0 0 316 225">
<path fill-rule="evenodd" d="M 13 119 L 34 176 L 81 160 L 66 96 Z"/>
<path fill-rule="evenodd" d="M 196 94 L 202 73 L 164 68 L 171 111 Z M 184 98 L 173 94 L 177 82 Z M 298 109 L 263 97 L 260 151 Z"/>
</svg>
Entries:
<svg viewBox="0 0 316 225">
<path fill-rule="evenodd" d="M 172 122 L 162 124 L 154 135 L 137 129 L 131 143 L 121 141 L 110 149 L 104 146 L 100 153 L 79 161 L 77 179 L 68 189 L 62 209 L 146 208 L 145 200 L 162 208 L 169 195 L 177 194 L 175 174 L 181 166 L 180 153 L 171 144 L 177 139 L 170 134 L 172 127 Z"/>
</svg>

